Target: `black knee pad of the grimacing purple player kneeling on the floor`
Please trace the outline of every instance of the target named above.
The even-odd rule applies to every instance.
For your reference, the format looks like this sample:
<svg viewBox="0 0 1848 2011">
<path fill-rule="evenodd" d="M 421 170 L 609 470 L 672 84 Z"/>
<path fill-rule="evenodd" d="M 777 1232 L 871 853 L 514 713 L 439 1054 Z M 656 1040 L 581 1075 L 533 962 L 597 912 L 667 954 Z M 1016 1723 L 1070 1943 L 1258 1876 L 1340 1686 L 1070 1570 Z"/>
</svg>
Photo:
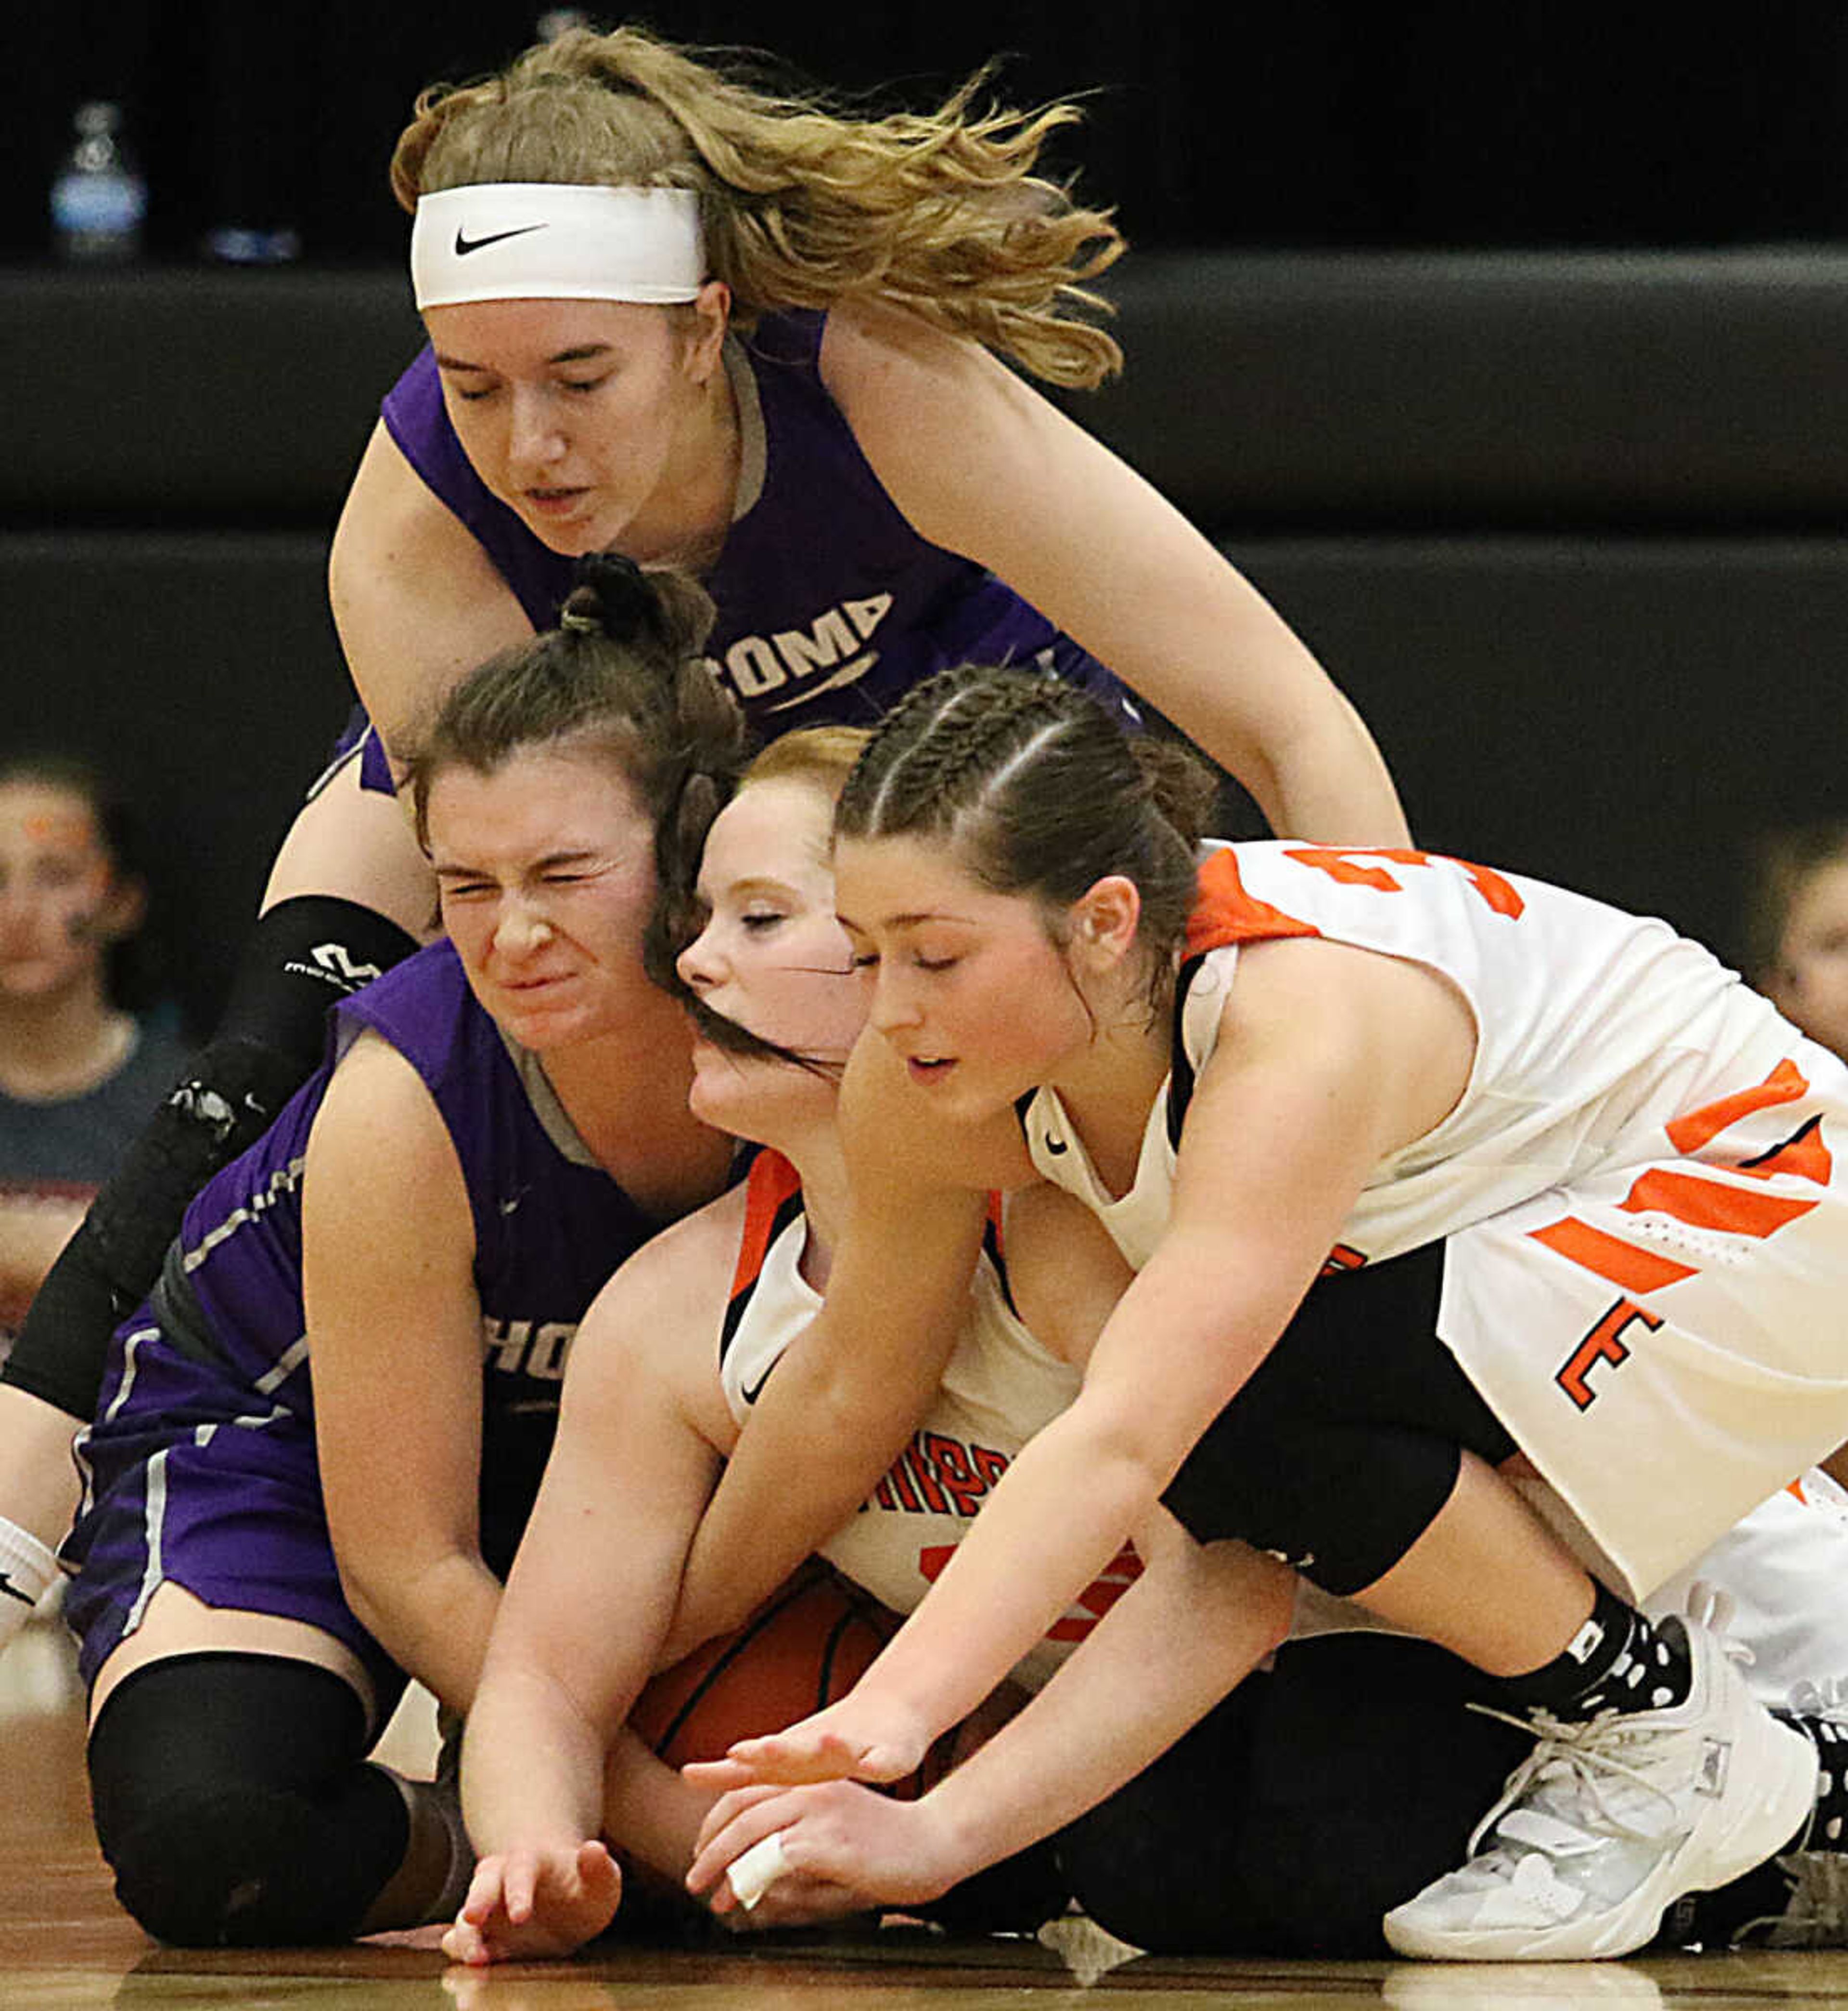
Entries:
<svg viewBox="0 0 1848 2011">
<path fill-rule="evenodd" d="M 314 1663 L 205 1653 L 137 1669 L 88 1744 L 117 1898 L 179 1947 L 350 1941 L 410 1836 L 364 1748 L 364 1705 Z"/>
</svg>

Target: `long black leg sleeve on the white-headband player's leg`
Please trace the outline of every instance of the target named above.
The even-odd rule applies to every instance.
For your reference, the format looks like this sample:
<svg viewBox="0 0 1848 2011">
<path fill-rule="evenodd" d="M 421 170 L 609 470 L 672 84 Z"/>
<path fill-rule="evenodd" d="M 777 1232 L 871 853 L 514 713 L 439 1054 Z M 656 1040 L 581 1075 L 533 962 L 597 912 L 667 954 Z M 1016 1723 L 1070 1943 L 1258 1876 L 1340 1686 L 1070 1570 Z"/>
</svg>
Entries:
<svg viewBox="0 0 1848 2011">
<path fill-rule="evenodd" d="M 153 1289 L 187 1203 L 269 1128 L 322 1060 L 328 1008 L 416 943 L 352 901 L 284 901 L 257 923 L 223 1030 L 129 1146 L 38 1287 L 0 1380 L 88 1420 L 109 1337 Z"/>
</svg>

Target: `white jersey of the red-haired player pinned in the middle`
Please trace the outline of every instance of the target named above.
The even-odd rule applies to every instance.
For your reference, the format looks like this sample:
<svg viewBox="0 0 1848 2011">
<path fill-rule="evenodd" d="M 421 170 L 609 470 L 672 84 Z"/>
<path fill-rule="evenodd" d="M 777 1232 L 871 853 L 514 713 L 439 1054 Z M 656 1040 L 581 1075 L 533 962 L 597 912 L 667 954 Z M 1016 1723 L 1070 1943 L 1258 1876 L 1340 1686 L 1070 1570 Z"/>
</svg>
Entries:
<svg viewBox="0 0 1848 2011">
<path fill-rule="evenodd" d="M 766 1233 L 746 1229 L 726 1313 L 720 1386 L 740 1426 L 782 1349 L 820 1307 L 800 1273 L 808 1223 L 794 1174 L 776 1154 L 760 1154 L 750 1176 L 756 1191 L 746 1203 L 748 1223 L 764 1215 L 760 1195 L 778 1199 Z M 909 1613 L 955 1555 L 1013 1454 L 1066 1410 L 1080 1380 L 1015 1319 L 1001 1271 L 983 1253 L 961 1339 L 923 1424 L 859 1514 L 822 1544 L 822 1557 L 895 1613 Z M 1038 1689 L 1136 1571 L 1126 1548 L 1020 1663 L 1015 1679 Z"/>
</svg>

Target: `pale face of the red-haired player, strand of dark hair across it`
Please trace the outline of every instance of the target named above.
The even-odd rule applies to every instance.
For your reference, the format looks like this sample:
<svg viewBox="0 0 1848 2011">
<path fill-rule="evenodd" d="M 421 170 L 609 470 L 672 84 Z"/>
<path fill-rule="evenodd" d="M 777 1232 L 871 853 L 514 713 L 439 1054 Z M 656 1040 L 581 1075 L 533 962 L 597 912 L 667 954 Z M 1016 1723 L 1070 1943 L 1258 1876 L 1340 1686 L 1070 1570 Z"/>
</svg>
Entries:
<svg viewBox="0 0 1848 2011">
<path fill-rule="evenodd" d="M 828 869 L 833 802 L 814 782 L 752 782 L 718 814 L 700 857 L 706 925 L 680 955 L 694 995 L 734 1026 L 839 1068 L 867 1020 Z M 833 1098 L 826 1078 L 700 1040 L 692 1108 L 756 1138 L 790 1096 Z M 774 1142 L 766 1140 L 766 1142 Z"/>
</svg>

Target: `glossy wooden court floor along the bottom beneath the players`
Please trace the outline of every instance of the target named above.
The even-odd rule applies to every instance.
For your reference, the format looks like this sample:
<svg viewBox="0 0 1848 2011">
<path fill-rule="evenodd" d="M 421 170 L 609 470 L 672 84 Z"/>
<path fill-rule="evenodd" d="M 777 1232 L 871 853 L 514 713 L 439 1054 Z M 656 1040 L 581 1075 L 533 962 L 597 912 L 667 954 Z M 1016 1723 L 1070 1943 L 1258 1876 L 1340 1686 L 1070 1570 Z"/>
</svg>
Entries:
<svg viewBox="0 0 1848 2011">
<path fill-rule="evenodd" d="M 418 1937 L 332 1951 L 159 1949 L 123 1916 L 90 1836 L 82 1725 L 0 1717 L 0 2011 L 1735 2011 L 1848 2005 L 1848 1955 L 1562 1967 L 1225 1963 L 1136 1957 L 1074 1925 L 1060 1947 L 915 1935 L 750 1953 L 611 1953 L 458 1971 Z M 426 1941 L 426 1939 L 424 1939 Z"/>
</svg>

